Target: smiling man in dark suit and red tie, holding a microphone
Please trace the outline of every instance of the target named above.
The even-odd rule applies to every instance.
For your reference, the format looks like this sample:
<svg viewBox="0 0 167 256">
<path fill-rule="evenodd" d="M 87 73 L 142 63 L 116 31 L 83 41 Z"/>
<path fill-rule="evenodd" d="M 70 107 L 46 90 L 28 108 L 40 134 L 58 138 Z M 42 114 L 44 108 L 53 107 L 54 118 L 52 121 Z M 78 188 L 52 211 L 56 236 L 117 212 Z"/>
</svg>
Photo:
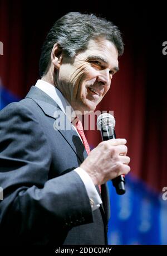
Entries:
<svg viewBox="0 0 167 256">
<path fill-rule="evenodd" d="M 117 27 L 95 15 L 68 13 L 48 33 L 41 80 L 0 115 L 3 244 L 107 244 L 105 183 L 130 171 L 126 140 L 89 153 L 66 107 L 94 111 L 123 50 Z M 57 112 L 67 117 L 65 129 L 56 128 Z"/>
</svg>

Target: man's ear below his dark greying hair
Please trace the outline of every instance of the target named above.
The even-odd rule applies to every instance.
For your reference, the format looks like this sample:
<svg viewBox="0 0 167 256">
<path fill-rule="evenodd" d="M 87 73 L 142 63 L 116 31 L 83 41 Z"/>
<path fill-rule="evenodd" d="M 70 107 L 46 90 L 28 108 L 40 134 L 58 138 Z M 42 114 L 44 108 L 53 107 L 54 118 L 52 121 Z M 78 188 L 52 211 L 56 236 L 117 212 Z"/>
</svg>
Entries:
<svg viewBox="0 0 167 256">
<path fill-rule="evenodd" d="M 51 61 L 56 69 L 60 69 L 62 63 L 62 49 L 57 44 L 53 45 L 53 49 L 51 52 Z"/>
</svg>

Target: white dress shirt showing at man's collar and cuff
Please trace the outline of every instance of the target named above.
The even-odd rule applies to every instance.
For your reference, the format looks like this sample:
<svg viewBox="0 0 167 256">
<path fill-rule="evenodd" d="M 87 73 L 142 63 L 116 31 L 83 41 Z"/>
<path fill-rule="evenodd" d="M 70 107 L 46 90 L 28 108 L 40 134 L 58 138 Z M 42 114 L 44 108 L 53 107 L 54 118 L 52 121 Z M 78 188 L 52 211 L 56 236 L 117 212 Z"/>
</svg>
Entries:
<svg viewBox="0 0 167 256">
<path fill-rule="evenodd" d="M 66 109 L 67 109 L 66 107 L 71 107 L 71 106 L 67 102 L 65 97 L 63 97 L 62 93 L 55 86 L 53 86 L 50 83 L 47 83 L 44 80 L 37 80 L 36 87 L 38 87 L 43 92 L 48 94 L 48 96 L 50 96 L 57 103 L 57 105 L 61 108 L 61 110 L 65 113 L 68 120 L 70 122 L 72 121 L 71 113 L 66 111 Z M 73 112 L 72 107 L 71 107 L 71 112 Z M 76 127 L 73 126 L 73 129 L 76 130 Z M 77 132 L 77 130 L 76 130 L 76 132 Z M 78 134 L 78 132 L 77 132 L 77 134 Z M 80 137 L 79 134 L 78 134 L 78 136 Z M 81 139 L 81 137 L 80 137 L 80 139 Z M 82 139 L 81 139 L 81 141 L 82 141 Z M 77 172 L 77 174 L 80 176 L 80 178 L 82 179 L 82 181 L 85 184 L 87 195 L 90 198 L 90 204 L 91 204 L 92 211 L 96 210 L 97 208 L 100 207 L 100 204 L 102 203 L 102 201 L 99 196 L 99 193 L 97 192 L 97 190 L 95 188 L 94 183 L 92 182 L 92 179 L 90 178 L 89 174 L 87 172 L 85 172 L 85 170 L 82 169 L 81 167 L 78 167 L 74 170 L 75 170 L 75 172 Z"/>
</svg>

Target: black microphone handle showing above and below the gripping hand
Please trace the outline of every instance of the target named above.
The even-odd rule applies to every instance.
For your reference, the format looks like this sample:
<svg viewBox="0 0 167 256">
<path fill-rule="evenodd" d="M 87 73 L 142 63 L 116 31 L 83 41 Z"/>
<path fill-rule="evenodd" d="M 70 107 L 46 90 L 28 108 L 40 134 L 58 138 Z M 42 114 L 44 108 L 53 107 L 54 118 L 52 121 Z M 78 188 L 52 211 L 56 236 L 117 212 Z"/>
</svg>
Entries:
<svg viewBox="0 0 167 256">
<path fill-rule="evenodd" d="M 101 136 L 102 139 L 105 140 L 110 140 L 110 139 L 116 139 L 116 134 L 115 130 L 107 125 L 106 129 L 101 129 Z M 125 175 L 121 174 L 120 176 L 116 177 L 115 179 L 112 179 L 112 184 L 116 189 L 116 193 L 118 195 L 124 195 L 126 190 L 125 190 Z"/>
</svg>

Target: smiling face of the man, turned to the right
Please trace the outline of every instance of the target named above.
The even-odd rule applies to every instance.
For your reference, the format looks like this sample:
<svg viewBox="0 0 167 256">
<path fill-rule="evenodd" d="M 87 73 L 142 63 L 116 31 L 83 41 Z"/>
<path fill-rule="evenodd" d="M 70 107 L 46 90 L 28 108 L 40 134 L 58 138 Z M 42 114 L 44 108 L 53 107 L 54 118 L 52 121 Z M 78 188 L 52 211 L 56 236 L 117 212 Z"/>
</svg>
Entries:
<svg viewBox="0 0 167 256">
<path fill-rule="evenodd" d="M 55 83 L 74 110 L 94 111 L 118 70 L 118 53 L 106 39 L 90 40 L 74 58 L 63 56 Z"/>
</svg>

